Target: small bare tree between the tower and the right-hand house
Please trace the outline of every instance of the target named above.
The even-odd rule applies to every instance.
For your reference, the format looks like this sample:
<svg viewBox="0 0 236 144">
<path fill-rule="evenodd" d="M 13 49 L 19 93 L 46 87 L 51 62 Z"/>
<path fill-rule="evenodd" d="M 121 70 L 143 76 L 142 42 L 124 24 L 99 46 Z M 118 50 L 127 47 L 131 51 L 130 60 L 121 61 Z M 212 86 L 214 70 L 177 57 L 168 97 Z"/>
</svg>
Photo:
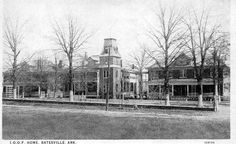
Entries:
<svg viewBox="0 0 236 144">
<path fill-rule="evenodd" d="M 131 60 L 130 60 L 130 66 L 137 70 L 138 75 L 140 77 L 139 79 L 139 94 L 140 98 L 143 98 L 143 72 L 145 68 L 147 67 L 148 63 L 150 62 L 150 59 L 145 51 L 146 47 L 145 45 L 140 46 L 140 51 L 134 52 L 131 54 Z"/>
</svg>

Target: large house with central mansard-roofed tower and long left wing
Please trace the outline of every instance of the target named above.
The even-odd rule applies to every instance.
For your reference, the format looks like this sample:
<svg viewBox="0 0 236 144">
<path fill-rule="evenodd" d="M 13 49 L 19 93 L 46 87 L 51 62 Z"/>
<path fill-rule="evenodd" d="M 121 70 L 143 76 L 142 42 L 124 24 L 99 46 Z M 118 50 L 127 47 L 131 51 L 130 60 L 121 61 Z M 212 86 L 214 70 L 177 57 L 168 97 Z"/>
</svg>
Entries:
<svg viewBox="0 0 236 144">
<path fill-rule="evenodd" d="M 110 76 L 108 75 L 108 61 L 110 63 Z M 69 96 L 69 84 L 66 79 L 66 69 L 60 69 L 56 96 Z M 46 77 L 42 87 L 36 69 L 29 69 L 27 77 L 30 80 L 18 81 L 17 95 L 27 96 L 44 96 L 53 95 L 53 70 L 45 71 Z M 10 73 L 5 72 L 5 77 Z M 74 95 L 86 95 L 87 97 L 105 98 L 108 91 L 110 98 L 120 98 L 121 94 L 126 97 L 139 96 L 139 76 L 136 71 L 122 67 L 121 55 L 118 51 L 116 39 L 104 39 L 104 47 L 100 55 L 88 57 L 85 54 L 82 64 L 74 71 L 73 76 L 73 93 Z M 109 83 L 108 83 L 109 82 Z M 50 83 L 50 84 L 49 84 Z M 26 90 L 26 86 L 28 87 Z M 3 96 L 12 97 L 12 83 L 5 79 L 3 83 Z M 24 89 L 24 90 L 23 90 Z M 25 91 L 25 92 L 23 92 Z M 55 96 L 55 94 L 53 95 Z"/>
</svg>

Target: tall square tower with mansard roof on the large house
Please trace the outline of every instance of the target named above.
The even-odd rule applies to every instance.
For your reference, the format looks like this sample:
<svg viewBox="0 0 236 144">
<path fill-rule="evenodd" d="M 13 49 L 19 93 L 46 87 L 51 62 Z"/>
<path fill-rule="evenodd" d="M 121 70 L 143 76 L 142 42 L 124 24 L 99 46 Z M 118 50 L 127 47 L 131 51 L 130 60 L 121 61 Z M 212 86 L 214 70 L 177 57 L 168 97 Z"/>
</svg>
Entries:
<svg viewBox="0 0 236 144">
<path fill-rule="evenodd" d="M 108 57 L 110 50 L 110 78 L 108 76 Z M 121 67 L 122 60 L 118 51 L 116 39 L 106 38 L 104 39 L 104 46 L 100 59 L 100 94 L 103 98 L 106 97 L 108 80 L 110 81 L 110 98 L 116 98 L 116 95 L 121 92 Z"/>
</svg>

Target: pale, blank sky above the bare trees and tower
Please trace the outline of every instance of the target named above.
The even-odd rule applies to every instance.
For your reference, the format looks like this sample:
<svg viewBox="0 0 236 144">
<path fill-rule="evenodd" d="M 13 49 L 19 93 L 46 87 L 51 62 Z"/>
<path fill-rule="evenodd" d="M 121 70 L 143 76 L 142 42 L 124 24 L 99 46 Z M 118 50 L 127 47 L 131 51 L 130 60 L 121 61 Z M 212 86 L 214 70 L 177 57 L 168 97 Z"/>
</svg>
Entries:
<svg viewBox="0 0 236 144">
<path fill-rule="evenodd" d="M 3 14 L 22 22 L 27 20 L 22 57 L 33 52 L 52 57 L 57 47 L 51 40 L 52 22 L 62 22 L 70 15 L 76 17 L 88 33 L 94 33 L 81 53 L 99 55 L 104 39 L 113 37 L 117 39 L 122 58 L 128 59 L 140 44 L 151 43 L 146 30 L 156 19 L 154 11 L 160 3 L 183 11 L 207 7 L 212 21 L 220 23 L 224 31 L 230 29 L 229 0 L 4 0 Z"/>
</svg>

